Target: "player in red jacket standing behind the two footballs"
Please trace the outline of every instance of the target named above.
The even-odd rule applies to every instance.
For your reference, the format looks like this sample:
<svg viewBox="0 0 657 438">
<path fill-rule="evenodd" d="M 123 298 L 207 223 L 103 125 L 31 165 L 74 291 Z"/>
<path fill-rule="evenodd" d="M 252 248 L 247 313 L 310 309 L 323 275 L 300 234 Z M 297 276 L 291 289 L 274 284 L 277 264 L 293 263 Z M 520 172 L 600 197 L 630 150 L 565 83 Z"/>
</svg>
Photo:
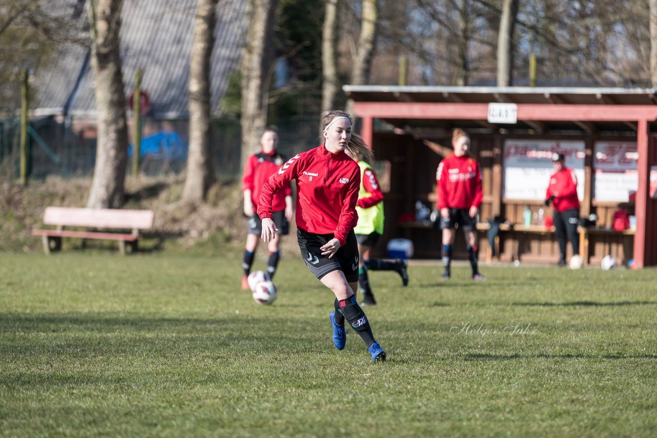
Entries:
<svg viewBox="0 0 657 438">
<path fill-rule="evenodd" d="M 244 166 L 244 178 L 242 188 L 244 190 L 244 214 L 248 216 L 248 235 L 246 237 L 246 248 L 242 258 L 242 289 L 248 289 L 248 274 L 251 272 L 254 255 L 260 242 L 262 232 L 260 217 L 256 213 L 260 192 L 265 181 L 277 172 L 281 165 L 287 160 L 277 152 L 279 144 L 279 133 L 275 127 L 265 127 L 260 137 L 262 151 L 249 156 Z M 286 235 L 290 232 L 288 221 L 292 219 L 292 191 L 290 186 L 277 192 L 273 200 L 273 219 L 279 228 L 278 234 L 269 242 L 269 260 L 267 260 L 267 273 L 273 278 L 279 265 L 281 252 L 279 251 L 280 234 Z"/>
</svg>

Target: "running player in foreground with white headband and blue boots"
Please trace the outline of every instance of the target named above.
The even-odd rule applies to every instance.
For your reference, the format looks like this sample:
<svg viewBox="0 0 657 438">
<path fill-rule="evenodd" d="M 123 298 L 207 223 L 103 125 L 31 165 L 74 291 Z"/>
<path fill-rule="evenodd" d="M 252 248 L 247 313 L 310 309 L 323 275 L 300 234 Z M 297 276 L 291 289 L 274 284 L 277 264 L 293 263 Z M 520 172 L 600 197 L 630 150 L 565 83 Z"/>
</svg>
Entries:
<svg viewBox="0 0 657 438">
<path fill-rule="evenodd" d="M 386 352 L 374 340 L 369 321 L 356 301 L 358 247 L 353 232 L 358 221 L 356 203 L 361 185 L 360 168 L 345 150 L 369 151 L 351 134 L 351 118 L 330 111 L 323 118 L 325 143 L 286 162 L 262 188 L 258 215 L 262 239 L 269 242 L 278 230 L 271 220 L 273 194 L 296 180 L 296 227 L 299 248 L 311 273 L 335 295 L 329 319 L 333 343 L 344 348 L 348 320 L 365 341 L 373 361 L 385 361 Z"/>
</svg>

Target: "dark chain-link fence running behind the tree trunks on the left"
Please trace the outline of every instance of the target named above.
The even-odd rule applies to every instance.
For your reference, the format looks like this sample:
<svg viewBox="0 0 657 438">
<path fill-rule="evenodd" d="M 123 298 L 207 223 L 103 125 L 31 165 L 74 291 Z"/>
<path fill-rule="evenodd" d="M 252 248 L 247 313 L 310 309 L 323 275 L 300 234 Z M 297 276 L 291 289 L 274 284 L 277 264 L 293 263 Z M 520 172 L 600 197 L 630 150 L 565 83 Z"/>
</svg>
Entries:
<svg viewBox="0 0 657 438">
<path fill-rule="evenodd" d="M 317 146 L 319 116 L 298 116 L 279 120 L 279 150 L 294 156 Z M 93 175 L 96 160 L 95 123 L 85 120 L 53 118 L 32 120 L 28 128 L 28 175 L 45 179 L 50 175 L 85 177 Z M 131 140 L 131 139 L 130 139 Z M 237 118 L 215 120 L 212 126 L 212 158 L 221 179 L 233 179 L 240 168 L 241 130 Z M 185 170 L 189 148 L 187 120 L 145 120 L 141 141 L 140 172 L 144 175 L 181 173 Z M 132 145 L 129 145 L 128 169 Z M 2 177 L 20 174 L 20 121 L 0 121 L 0 169 Z"/>
</svg>

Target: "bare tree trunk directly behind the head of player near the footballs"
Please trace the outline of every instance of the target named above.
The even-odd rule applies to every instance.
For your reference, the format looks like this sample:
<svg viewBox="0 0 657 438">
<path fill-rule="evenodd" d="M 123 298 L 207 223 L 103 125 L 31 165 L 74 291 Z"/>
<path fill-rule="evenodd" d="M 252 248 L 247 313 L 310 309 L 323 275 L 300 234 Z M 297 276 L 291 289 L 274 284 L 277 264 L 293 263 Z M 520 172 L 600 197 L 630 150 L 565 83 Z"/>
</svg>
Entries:
<svg viewBox="0 0 657 438">
<path fill-rule="evenodd" d="M 278 0 L 250 0 L 249 30 L 242 56 L 242 160 L 260 150 L 260 136 L 267 124 L 269 70 Z"/>
</svg>

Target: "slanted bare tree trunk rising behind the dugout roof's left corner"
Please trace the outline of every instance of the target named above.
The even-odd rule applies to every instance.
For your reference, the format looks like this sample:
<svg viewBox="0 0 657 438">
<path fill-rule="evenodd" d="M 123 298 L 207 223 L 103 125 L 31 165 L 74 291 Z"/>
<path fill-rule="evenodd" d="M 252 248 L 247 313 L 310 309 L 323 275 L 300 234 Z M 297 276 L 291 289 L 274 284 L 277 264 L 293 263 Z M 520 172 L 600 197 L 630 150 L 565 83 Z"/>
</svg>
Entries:
<svg viewBox="0 0 657 438">
<path fill-rule="evenodd" d="M 374 53 L 374 39 L 376 39 L 376 16 L 378 8 L 376 0 L 363 0 L 363 21 L 361 34 L 358 38 L 358 47 L 353 66 L 351 68 L 351 83 L 361 85 L 369 78 L 372 55 Z M 346 111 L 353 112 L 353 100 L 347 101 Z"/>
</svg>

